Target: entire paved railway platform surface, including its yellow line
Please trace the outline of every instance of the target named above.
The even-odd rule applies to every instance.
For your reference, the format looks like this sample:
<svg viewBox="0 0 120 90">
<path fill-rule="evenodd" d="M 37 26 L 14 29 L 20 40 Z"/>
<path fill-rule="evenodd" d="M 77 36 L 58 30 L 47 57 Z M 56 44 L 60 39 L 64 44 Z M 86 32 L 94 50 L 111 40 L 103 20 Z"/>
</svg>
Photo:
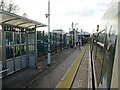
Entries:
<svg viewBox="0 0 120 90">
<path fill-rule="evenodd" d="M 89 44 L 68 48 L 45 58 L 38 69 L 23 69 L 3 79 L 3 88 L 92 88 Z"/>
</svg>

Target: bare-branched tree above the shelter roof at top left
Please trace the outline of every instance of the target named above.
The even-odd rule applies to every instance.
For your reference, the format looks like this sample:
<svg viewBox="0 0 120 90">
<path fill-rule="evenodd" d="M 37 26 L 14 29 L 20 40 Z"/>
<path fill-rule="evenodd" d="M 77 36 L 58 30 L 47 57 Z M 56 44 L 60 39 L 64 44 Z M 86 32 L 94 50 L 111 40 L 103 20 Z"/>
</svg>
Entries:
<svg viewBox="0 0 120 90">
<path fill-rule="evenodd" d="M 20 10 L 19 6 L 10 0 L 9 2 L 5 0 L 0 0 L 0 9 L 11 13 L 16 13 Z"/>
</svg>

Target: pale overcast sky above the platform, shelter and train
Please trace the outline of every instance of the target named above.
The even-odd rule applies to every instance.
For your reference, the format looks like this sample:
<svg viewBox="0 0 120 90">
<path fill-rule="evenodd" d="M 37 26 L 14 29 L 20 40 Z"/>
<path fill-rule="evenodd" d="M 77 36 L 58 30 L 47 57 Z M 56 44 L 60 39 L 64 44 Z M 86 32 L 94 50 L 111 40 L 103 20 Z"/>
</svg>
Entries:
<svg viewBox="0 0 120 90">
<path fill-rule="evenodd" d="M 10 1 L 10 0 L 9 0 Z M 27 13 L 28 18 L 47 24 L 48 0 L 12 0 L 20 7 L 19 15 Z M 111 0 L 50 0 L 51 31 L 63 29 L 69 31 L 71 23 L 78 30 L 92 32 L 96 29 Z M 47 31 L 47 28 L 46 28 Z"/>
</svg>

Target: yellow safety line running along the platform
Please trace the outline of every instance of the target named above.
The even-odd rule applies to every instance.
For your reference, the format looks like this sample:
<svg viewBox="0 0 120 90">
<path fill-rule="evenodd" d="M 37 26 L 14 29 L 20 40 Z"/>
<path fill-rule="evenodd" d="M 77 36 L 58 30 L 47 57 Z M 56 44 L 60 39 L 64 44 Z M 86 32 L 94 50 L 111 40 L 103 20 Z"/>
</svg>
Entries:
<svg viewBox="0 0 120 90">
<path fill-rule="evenodd" d="M 69 70 L 66 72 L 64 78 L 58 83 L 56 88 L 70 88 L 71 87 L 74 77 L 79 68 L 79 64 L 85 54 L 85 50 L 86 50 L 87 46 L 88 45 L 86 45 L 85 47 L 82 48 L 82 50 L 80 51 L 80 54 L 77 56 L 74 63 L 69 68 Z"/>
</svg>

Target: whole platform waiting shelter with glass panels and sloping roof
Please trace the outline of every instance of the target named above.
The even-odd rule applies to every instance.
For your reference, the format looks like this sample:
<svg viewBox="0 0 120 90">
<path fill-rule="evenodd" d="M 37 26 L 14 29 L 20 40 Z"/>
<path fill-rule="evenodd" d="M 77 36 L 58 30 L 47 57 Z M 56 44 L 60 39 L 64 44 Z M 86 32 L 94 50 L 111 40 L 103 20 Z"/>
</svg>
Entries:
<svg viewBox="0 0 120 90">
<path fill-rule="evenodd" d="M 0 16 L 0 61 L 8 69 L 4 76 L 26 66 L 36 67 L 36 28 L 46 25 L 6 11 Z"/>
</svg>

